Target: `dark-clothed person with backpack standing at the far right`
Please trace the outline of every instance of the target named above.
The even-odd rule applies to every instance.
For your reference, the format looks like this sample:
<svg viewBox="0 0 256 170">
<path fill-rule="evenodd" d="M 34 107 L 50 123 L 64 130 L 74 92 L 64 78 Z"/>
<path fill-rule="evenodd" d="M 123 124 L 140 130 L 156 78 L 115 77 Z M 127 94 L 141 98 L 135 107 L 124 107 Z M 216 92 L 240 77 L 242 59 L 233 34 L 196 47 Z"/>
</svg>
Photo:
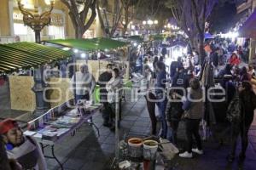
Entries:
<svg viewBox="0 0 256 170">
<path fill-rule="evenodd" d="M 227 118 L 231 122 L 231 150 L 228 161 L 234 161 L 236 156 L 236 141 L 241 135 L 240 161 L 246 158 L 248 146 L 248 131 L 253 122 L 254 110 L 256 109 L 256 94 L 250 82 L 241 82 L 239 94 L 230 102 Z"/>
</svg>

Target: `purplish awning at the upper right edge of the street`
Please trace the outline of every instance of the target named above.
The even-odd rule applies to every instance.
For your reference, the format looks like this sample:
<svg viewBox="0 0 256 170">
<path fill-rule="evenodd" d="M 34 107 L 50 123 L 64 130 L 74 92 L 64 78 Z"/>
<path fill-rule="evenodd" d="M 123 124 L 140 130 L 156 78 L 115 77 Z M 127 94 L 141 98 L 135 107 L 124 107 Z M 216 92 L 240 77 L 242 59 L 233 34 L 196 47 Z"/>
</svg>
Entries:
<svg viewBox="0 0 256 170">
<path fill-rule="evenodd" d="M 256 10 L 249 16 L 246 22 L 239 29 L 239 37 L 256 38 Z"/>
</svg>

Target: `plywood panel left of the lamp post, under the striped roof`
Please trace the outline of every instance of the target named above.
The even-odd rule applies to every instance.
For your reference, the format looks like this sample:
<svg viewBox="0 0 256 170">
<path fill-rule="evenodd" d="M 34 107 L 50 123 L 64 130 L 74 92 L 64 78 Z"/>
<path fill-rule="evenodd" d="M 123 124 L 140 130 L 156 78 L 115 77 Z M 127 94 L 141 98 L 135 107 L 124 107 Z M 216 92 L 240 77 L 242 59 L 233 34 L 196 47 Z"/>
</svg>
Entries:
<svg viewBox="0 0 256 170">
<path fill-rule="evenodd" d="M 35 94 L 32 92 L 33 77 L 9 77 L 11 109 L 34 111 L 36 108 Z"/>
</svg>

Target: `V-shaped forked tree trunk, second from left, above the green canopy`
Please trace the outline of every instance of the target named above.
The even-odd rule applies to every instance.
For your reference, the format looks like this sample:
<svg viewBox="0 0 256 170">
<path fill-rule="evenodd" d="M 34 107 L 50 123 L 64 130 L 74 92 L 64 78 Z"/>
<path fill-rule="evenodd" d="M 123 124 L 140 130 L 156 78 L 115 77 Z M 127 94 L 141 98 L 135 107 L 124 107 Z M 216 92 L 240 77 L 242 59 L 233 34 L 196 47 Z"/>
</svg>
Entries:
<svg viewBox="0 0 256 170">
<path fill-rule="evenodd" d="M 102 11 L 101 11 L 102 7 Z M 110 14 L 107 14 L 108 1 L 107 0 L 99 0 L 96 3 L 97 14 L 101 23 L 102 31 L 105 33 L 107 37 L 113 37 L 114 32 L 119 26 L 119 21 L 122 16 L 123 5 L 119 2 L 119 0 L 114 0 L 114 8 L 112 18 L 109 17 Z M 112 20 L 109 20 L 109 19 Z M 111 25 L 110 25 L 111 24 Z"/>
</svg>

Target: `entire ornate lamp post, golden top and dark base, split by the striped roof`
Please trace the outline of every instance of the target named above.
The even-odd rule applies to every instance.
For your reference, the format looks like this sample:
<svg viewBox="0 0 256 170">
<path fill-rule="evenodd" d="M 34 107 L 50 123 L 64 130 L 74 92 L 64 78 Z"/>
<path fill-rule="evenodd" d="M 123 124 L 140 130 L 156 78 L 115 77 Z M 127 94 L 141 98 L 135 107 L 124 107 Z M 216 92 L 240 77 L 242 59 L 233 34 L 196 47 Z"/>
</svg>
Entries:
<svg viewBox="0 0 256 170">
<path fill-rule="evenodd" d="M 23 14 L 23 22 L 25 26 L 29 26 L 35 32 L 36 42 L 41 42 L 40 32 L 44 29 L 44 26 L 49 26 L 51 18 L 50 14 L 54 8 L 54 0 L 48 0 L 50 8 L 42 14 L 38 13 L 38 0 L 36 1 L 34 12 L 30 12 L 24 5 L 21 4 L 21 0 L 17 0 L 18 7 Z M 44 66 L 39 65 L 37 69 L 34 70 L 33 79 L 34 86 L 32 91 L 36 95 L 36 110 L 35 115 L 41 116 L 45 111 L 49 110 L 49 103 L 44 99 L 44 88 L 46 88 L 46 83 L 44 82 Z"/>
</svg>

